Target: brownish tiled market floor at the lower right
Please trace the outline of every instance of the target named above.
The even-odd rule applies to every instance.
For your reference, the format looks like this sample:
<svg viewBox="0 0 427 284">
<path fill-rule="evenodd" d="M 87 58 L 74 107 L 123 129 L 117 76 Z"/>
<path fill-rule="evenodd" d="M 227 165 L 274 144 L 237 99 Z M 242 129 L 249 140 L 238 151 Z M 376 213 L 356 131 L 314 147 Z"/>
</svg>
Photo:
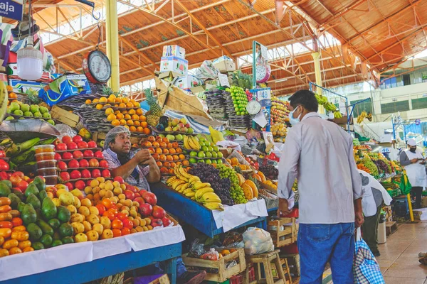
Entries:
<svg viewBox="0 0 427 284">
<path fill-rule="evenodd" d="M 427 252 L 427 222 L 399 225 L 379 251 L 376 260 L 387 284 L 427 284 L 427 266 L 418 263 L 418 253 Z"/>
</svg>

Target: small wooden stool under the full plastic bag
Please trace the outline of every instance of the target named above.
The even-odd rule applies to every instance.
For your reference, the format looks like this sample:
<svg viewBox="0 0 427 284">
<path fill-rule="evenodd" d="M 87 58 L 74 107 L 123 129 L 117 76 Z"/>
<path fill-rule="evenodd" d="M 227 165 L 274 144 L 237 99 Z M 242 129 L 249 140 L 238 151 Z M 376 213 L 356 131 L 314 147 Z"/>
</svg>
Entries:
<svg viewBox="0 0 427 284">
<path fill-rule="evenodd" d="M 248 257 L 248 261 L 253 263 L 255 268 L 255 281 L 251 282 L 250 284 L 255 283 L 267 283 L 267 284 L 286 284 L 287 281 L 285 279 L 285 274 L 283 273 L 282 264 L 280 263 L 280 256 L 279 256 L 280 250 L 275 250 L 270 253 L 261 253 L 261 254 L 255 254 L 253 256 Z M 261 263 L 263 263 L 264 266 L 264 274 L 265 278 L 261 278 Z M 271 263 L 274 263 L 276 267 L 276 271 L 278 273 L 278 280 L 274 281 L 273 279 L 273 272 L 271 271 Z M 246 275 L 245 275 L 245 283 L 248 283 L 248 268 L 246 268 Z"/>
</svg>

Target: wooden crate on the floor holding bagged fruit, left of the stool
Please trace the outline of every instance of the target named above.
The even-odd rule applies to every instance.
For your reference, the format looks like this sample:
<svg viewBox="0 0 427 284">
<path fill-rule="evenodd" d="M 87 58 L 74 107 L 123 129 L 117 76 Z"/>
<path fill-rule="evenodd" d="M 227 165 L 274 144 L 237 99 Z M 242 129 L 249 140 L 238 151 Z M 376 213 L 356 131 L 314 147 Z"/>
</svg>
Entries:
<svg viewBox="0 0 427 284">
<path fill-rule="evenodd" d="M 195 267 L 196 269 L 201 269 L 207 272 L 205 280 L 214 281 L 214 282 L 224 282 L 225 280 L 231 278 L 233 275 L 237 275 L 245 271 L 246 269 L 246 259 L 245 259 L 245 250 L 237 249 L 233 253 L 220 258 L 218 261 L 209 261 L 207 259 L 192 258 L 184 254 L 182 256 L 182 261 L 186 266 Z M 231 261 L 236 261 L 237 265 L 231 268 L 227 268 L 227 264 Z M 210 273 L 209 270 L 218 271 L 217 273 Z"/>
</svg>

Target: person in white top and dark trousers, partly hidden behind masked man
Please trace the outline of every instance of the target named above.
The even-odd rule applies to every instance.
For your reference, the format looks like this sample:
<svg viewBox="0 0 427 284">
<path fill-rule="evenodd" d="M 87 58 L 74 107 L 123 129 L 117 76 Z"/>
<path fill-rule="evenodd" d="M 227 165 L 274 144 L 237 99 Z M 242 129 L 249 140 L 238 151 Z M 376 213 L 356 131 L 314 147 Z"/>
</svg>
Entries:
<svg viewBox="0 0 427 284">
<path fill-rule="evenodd" d="M 364 170 L 359 170 L 364 190 L 362 208 L 364 224 L 362 225 L 363 239 L 374 256 L 380 256 L 378 250 L 378 224 L 383 204 L 390 205 L 389 192 L 373 176 Z"/>
</svg>

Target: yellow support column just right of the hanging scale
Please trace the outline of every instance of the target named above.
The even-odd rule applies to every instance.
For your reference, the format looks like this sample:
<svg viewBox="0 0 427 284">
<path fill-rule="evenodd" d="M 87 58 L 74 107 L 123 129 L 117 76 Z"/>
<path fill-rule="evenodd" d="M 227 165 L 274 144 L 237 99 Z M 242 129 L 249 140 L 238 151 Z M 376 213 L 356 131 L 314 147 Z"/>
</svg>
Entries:
<svg viewBox="0 0 427 284">
<path fill-rule="evenodd" d="M 117 18 L 117 0 L 105 0 L 107 57 L 111 62 L 111 79 L 109 84 L 114 92 L 120 90 L 119 28 Z"/>
</svg>

